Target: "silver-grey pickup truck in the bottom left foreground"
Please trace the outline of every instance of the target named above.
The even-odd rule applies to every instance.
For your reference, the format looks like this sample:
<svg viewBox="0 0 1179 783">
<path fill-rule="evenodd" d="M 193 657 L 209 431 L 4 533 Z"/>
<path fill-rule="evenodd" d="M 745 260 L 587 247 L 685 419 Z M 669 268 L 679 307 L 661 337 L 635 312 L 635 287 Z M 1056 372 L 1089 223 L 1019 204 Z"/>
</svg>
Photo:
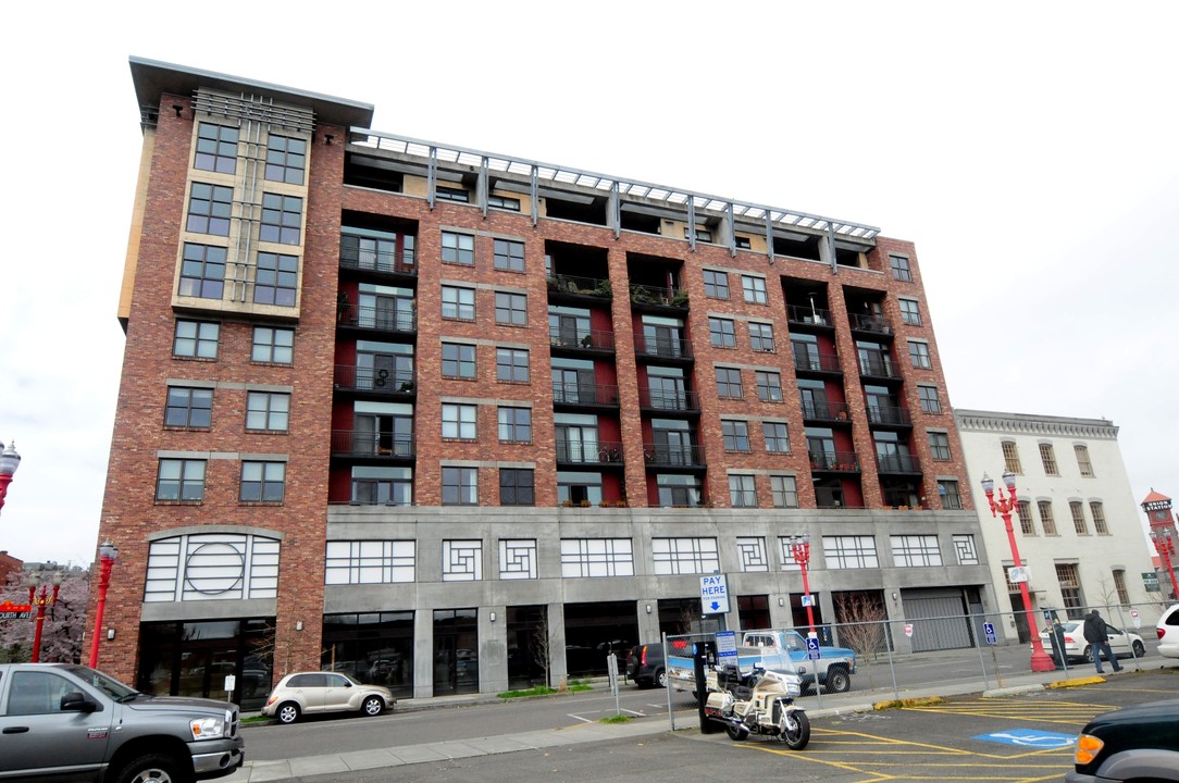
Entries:
<svg viewBox="0 0 1179 783">
<path fill-rule="evenodd" d="M 238 710 L 72 664 L 0 664 L 0 781 L 191 783 L 244 761 Z"/>
</svg>

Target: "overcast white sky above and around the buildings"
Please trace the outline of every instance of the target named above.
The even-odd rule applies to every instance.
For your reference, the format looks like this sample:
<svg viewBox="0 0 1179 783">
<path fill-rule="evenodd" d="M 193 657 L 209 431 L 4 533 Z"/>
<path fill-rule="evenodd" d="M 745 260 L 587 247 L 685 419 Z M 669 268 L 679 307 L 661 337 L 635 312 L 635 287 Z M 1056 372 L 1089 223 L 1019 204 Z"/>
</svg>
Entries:
<svg viewBox="0 0 1179 783">
<path fill-rule="evenodd" d="M 132 54 L 367 101 L 380 131 L 911 239 L 955 407 L 1109 419 L 1135 499 L 1179 498 L 1179 4 L 402 6 L 7 12 L 0 440 L 24 462 L 0 550 L 94 558 Z"/>
</svg>

